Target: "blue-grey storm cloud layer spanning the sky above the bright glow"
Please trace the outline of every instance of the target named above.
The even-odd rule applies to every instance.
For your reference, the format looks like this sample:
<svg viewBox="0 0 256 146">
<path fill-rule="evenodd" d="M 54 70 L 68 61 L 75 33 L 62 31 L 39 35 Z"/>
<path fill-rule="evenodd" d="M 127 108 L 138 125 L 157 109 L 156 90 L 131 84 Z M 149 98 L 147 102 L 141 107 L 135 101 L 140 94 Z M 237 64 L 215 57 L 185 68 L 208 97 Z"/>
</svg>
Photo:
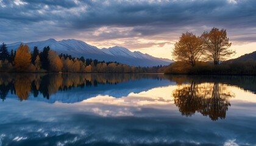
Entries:
<svg viewBox="0 0 256 146">
<path fill-rule="evenodd" d="M 75 36 L 84 32 L 94 40 L 108 40 L 220 27 L 237 41 L 256 40 L 256 1 L 29 1 L 0 0 L 0 40 L 30 41 L 48 35 Z M 100 27 L 108 32 L 94 35 Z M 127 30 L 111 30 L 126 28 Z M 30 29 L 30 30 L 26 30 Z M 19 35 L 20 33 L 20 35 Z M 23 33 L 26 33 L 24 36 Z M 13 35 L 15 34 L 15 35 Z M 39 35 L 40 34 L 40 35 Z M 116 35 L 115 35 L 116 34 Z M 9 35 L 5 38 L 5 35 Z M 85 35 L 86 36 L 86 35 Z"/>
</svg>

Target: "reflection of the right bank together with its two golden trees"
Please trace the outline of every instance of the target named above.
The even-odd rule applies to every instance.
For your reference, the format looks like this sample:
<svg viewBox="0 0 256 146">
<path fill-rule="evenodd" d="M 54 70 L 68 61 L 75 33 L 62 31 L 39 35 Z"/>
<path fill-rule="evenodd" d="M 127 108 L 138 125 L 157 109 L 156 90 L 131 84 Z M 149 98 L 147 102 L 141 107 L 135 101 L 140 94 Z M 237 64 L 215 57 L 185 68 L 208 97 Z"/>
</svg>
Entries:
<svg viewBox="0 0 256 146">
<path fill-rule="evenodd" d="M 198 112 L 209 116 L 212 120 L 224 119 L 231 106 L 229 100 L 240 96 L 230 91 L 230 87 L 237 86 L 244 91 L 256 93 L 255 76 L 166 75 L 165 77 L 176 82 L 177 89 L 172 91 L 172 96 L 183 116 L 192 116 Z"/>
</svg>

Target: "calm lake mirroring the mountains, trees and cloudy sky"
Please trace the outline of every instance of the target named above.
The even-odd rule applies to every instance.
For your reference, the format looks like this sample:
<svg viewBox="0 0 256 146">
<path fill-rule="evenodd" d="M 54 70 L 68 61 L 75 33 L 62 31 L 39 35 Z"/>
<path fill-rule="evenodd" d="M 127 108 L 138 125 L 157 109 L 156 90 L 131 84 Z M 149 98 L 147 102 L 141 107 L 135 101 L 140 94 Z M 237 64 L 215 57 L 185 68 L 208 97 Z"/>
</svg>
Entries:
<svg viewBox="0 0 256 146">
<path fill-rule="evenodd" d="M 256 145 L 256 76 L 0 74 L 0 146 Z"/>
</svg>

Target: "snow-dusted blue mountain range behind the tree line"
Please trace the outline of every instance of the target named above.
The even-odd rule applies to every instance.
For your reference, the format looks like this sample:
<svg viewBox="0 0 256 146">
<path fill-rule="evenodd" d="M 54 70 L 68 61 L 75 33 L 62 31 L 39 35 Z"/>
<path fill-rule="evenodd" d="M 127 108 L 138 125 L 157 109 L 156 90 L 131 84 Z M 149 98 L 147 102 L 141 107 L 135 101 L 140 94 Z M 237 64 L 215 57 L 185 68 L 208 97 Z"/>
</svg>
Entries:
<svg viewBox="0 0 256 146">
<path fill-rule="evenodd" d="M 58 54 L 69 54 L 73 57 L 84 57 L 98 59 L 99 61 L 117 61 L 119 63 L 129 64 L 132 66 L 157 66 L 168 65 L 172 63 L 172 60 L 164 58 L 152 57 L 149 54 L 143 54 L 135 51 L 131 52 L 125 47 L 109 47 L 108 49 L 99 49 L 98 47 L 91 46 L 84 41 L 79 40 L 62 40 L 56 41 L 49 39 L 46 41 L 36 41 L 29 43 L 12 43 L 7 44 L 9 51 L 11 49 L 16 50 L 20 44 L 27 44 L 30 50 L 33 50 L 34 46 L 37 46 L 39 50 L 43 50 L 43 47 L 49 46 L 52 50 L 55 50 Z"/>
</svg>

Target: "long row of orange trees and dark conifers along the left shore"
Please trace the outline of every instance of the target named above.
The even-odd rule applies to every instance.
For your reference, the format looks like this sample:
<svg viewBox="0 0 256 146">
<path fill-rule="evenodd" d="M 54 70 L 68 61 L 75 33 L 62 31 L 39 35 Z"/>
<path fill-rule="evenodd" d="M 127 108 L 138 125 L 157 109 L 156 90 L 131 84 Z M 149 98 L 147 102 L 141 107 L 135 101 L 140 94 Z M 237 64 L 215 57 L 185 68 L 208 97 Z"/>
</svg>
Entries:
<svg viewBox="0 0 256 146">
<path fill-rule="evenodd" d="M 163 72 L 163 66 L 140 67 L 117 63 L 116 61 L 98 61 L 84 57 L 72 57 L 57 54 L 49 46 L 40 52 L 35 46 L 30 51 L 26 44 L 20 44 L 9 54 L 6 44 L 0 46 L 0 72 Z"/>
</svg>

